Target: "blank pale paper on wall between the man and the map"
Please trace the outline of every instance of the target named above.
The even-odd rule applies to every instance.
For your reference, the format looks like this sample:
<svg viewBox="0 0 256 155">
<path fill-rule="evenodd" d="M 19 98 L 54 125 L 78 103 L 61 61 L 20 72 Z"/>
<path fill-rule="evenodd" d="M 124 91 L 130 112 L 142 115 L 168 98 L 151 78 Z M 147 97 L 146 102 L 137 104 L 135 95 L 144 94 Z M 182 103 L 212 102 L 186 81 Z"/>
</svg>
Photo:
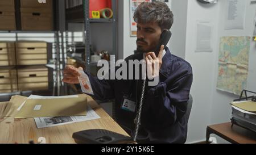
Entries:
<svg viewBox="0 0 256 155">
<path fill-rule="evenodd" d="M 197 20 L 195 52 L 212 52 L 212 25 L 209 21 Z"/>
</svg>

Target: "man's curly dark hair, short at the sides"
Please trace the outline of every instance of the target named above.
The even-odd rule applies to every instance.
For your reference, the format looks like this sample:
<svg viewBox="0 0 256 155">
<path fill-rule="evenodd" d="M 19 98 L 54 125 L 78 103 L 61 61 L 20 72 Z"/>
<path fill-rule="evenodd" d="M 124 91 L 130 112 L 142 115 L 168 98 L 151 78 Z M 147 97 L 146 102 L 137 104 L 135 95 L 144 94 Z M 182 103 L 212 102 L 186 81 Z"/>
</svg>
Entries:
<svg viewBox="0 0 256 155">
<path fill-rule="evenodd" d="M 143 2 L 134 12 L 137 23 L 157 22 L 161 30 L 170 30 L 174 23 L 174 14 L 164 2 Z"/>
</svg>

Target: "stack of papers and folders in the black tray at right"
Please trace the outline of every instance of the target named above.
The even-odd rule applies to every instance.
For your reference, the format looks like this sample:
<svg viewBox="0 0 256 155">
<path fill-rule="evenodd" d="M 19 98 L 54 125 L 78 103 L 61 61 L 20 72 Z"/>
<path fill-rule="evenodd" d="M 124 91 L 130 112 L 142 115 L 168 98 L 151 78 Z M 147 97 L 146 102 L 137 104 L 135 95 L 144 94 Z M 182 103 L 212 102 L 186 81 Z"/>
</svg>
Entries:
<svg viewBox="0 0 256 155">
<path fill-rule="evenodd" d="M 233 122 L 256 132 L 256 102 L 232 102 Z"/>
</svg>

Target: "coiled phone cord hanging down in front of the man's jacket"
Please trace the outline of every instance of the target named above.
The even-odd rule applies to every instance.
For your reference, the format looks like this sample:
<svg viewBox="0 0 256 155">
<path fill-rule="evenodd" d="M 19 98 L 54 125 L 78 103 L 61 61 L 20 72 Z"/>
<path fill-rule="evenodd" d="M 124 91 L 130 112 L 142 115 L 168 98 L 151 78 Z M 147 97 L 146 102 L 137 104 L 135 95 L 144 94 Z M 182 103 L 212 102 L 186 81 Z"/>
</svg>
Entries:
<svg viewBox="0 0 256 155">
<path fill-rule="evenodd" d="M 142 112 L 142 104 L 143 104 L 143 99 L 144 99 L 144 94 L 145 94 L 145 87 L 146 87 L 146 73 L 144 74 L 143 83 L 142 83 L 141 100 L 139 102 L 139 110 L 138 110 L 138 114 L 137 114 L 137 121 L 136 121 L 133 141 L 136 141 L 138 132 L 139 132 L 139 124 L 141 123 L 141 112 Z"/>
</svg>

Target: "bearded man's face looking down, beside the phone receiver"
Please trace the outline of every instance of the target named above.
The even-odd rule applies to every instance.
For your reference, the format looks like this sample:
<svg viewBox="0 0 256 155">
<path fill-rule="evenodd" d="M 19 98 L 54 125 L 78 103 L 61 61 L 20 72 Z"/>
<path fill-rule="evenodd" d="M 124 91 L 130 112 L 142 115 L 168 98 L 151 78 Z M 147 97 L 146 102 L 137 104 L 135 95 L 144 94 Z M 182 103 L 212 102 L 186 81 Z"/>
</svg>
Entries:
<svg viewBox="0 0 256 155">
<path fill-rule="evenodd" d="M 137 24 L 137 51 L 138 52 L 158 52 L 154 51 L 158 45 L 162 31 L 158 23 L 138 23 Z"/>
</svg>

